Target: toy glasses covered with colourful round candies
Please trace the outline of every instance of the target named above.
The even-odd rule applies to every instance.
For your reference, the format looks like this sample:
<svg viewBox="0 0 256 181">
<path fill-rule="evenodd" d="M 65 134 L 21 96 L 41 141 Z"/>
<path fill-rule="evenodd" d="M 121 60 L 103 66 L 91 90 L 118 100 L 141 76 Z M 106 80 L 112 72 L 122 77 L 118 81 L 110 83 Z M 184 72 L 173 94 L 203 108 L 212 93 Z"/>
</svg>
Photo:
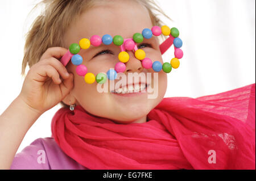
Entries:
<svg viewBox="0 0 256 181">
<path fill-rule="evenodd" d="M 160 51 L 163 54 L 168 48 L 174 44 L 174 55 L 171 62 L 164 62 L 162 64 L 159 61 L 154 61 L 146 57 L 146 53 L 142 49 L 138 49 L 137 43 L 142 43 L 144 39 L 151 39 L 154 36 L 160 36 L 163 33 L 164 36 L 170 36 L 160 45 Z M 91 45 L 98 47 L 101 44 L 110 45 L 114 44 L 120 47 L 121 52 L 118 54 L 119 62 L 115 64 L 114 69 L 110 69 L 107 73 L 98 73 L 96 76 L 93 73 L 89 73 L 86 66 L 82 65 L 82 57 L 78 54 L 81 49 L 88 49 Z M 123 73 L 126 70 L 126 62 L 129 61 L 129 54 L 126 50 L 134 50 L 135 57 L 141 61 L 143 68 L 153 69 L 156 72 L 163 70 L 165 73 L 170 73 L 172 68 L 179 68 L 179 59 L 183 57 L 183 51 L 180 49 L 183 42 L 179 38 L 179 30 L 177 28 L 169 28 L 163 26 L 162 28 L 154 26 L 150 29 L 145 28 L 142 33 L 135 33 L 133 38 L 123 39 L 122 36 L 110 36 L 104 35 L 102 37 L 93 35 L 89 39 L 81 39 L 79 44 L 73 43 L 69 46 L 69 50 L 63 57 L 61 57 L 61 63 L 66 66 L 71 60 L 73 65 L 77 65 L 76 72 L 78 75 L 84 77 L 86 83 L 105 83 L 107 79 L 114 80 L 117 78 L 117 73 Z"/>
</svg>

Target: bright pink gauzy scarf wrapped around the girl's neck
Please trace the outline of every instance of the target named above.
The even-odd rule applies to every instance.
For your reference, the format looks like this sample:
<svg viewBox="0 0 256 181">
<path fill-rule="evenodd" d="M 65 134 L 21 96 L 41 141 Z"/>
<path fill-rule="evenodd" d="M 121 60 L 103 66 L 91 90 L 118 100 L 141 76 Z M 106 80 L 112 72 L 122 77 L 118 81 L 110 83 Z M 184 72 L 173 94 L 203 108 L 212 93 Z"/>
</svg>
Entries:
<svg viewBox="0 0 256 181">
<path fill-rule="evenodd" d="M 255 83 L 164 98 L 146 123 L 116 124 L 81 106 L 52 119 L 60 148 L 88 169 L 255 169 Z"/>
</svg>

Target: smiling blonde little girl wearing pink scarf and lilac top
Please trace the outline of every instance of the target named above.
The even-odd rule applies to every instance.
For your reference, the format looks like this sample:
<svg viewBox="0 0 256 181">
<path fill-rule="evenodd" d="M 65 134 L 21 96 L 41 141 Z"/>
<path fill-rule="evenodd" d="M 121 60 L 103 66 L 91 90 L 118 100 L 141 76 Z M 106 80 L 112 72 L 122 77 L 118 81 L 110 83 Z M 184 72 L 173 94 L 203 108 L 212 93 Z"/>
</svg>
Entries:
<svg viewBox="0 0 256 181">
<path fill-rule="evenodd" d="M 255 83 L 197 99 L 163 98 L 167 75 L 161 70 L 146 92 L 142 82 L 99 92 L 71 62 L 61 64 L 69 45 L 82 38 L 108 33 L 129 39 L 144 28 L 162 27 L 155 11 L 164 13 L 152 0 L 43 3 L 46 9 L 26 39 L 22 72 L 27 64 L 30 70 L 0 117 L 0 169 L 255 169 Z M 163 64 L 158 37 L 137 46 Z M 119 52 L 110 44 L 79 54 L 97 75 L 114 68 Z M 127 53 L 124 74 L 154 73 Z M 149 86 L 158 88 L 154 99 L 148 99 Z M 63 108 L 53 116 L 52 137 L 15 155 L 32 124 L 58 103 Z"/>
</svg>

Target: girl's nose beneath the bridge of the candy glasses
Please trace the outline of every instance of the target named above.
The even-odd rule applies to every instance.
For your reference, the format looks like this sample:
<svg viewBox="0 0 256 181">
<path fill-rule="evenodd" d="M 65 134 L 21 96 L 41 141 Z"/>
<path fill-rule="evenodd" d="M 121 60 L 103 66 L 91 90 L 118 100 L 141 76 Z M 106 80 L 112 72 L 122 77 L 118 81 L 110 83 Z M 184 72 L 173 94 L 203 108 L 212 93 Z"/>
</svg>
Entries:
<svg viewBox="0 0 256 181">
<path fill-rule="evenodd" d="M 141 60 L 138 60 L 133 51 L 127 51 L 129 53 L 130 59 L 126 62 L 126 70 L 123 73 L 141 73 L 143 70 Z"/>
</svg>

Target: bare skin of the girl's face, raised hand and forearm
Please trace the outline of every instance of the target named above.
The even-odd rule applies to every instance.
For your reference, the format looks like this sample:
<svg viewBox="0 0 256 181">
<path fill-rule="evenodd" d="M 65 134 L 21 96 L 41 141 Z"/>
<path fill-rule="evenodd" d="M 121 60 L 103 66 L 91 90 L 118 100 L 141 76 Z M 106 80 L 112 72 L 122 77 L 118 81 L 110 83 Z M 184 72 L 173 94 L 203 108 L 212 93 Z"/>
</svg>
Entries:
<svg viewBox="0 0 256 181">
<path fill-rule="evenodd" d="M 120 8 L 125 7 L 125 8 Z M 100 13 L 99 13 L 100 12 Z M 129 27 L 128 27 L 129 26 Z M 104 28 L 102 28 L 104 27 Z M 147 10 L 134 1 L 108 1 L 84 12 L 73 22 L 64 36 L 65 47 L 52 47 L 46 50 L 39 62 L 31 66 L 24 79 L 22 90 L 17 98 L 0 115 L 0 169 L 10 169 L 14 155 L 28 129 L 47 110 L 60 103 L 82 106 L 96 116 L 112 119 L 118 124 L 145 123 L 147 113 L 160 103 L 167 88 L 166 73 L 158 73 L 158 96 L 147 99 L 147 93 L 137 96 L 119 96 L 110 92 L 97 92 L 97 83 L 88 85 L 84 78 L 76 74 L 76 66 L 69 63 L 67 69 L 59 59 L 68 51 L 72 43 L 78 43 L 83 37 L 92 35 L 133 37 L 135 32 L 151 28 L 152 23 Z M 162 61 L 158 40 L 153 37 L 144 40 L 152 47 L 141 47 L 152 61 Z M 108 48 L 112 53 L 94 57 L 96 53 Z M 119 47 L 90 47 L 81 50 L 83 64 L 97 75 L 107 72 L 119 61 Z M 143 69 L 141 61 L 128 51 L 130 60 L 126 63 L 127 73 L 153 72 Z M 93 58 L 94 57 L 94 58 Z M 69 73 L 68 73 L 69 72 Z M 152 82 L 151 82 L 152 84 Z M 154 86 L 154 85 L 153 85 Z"/>
</svg>

